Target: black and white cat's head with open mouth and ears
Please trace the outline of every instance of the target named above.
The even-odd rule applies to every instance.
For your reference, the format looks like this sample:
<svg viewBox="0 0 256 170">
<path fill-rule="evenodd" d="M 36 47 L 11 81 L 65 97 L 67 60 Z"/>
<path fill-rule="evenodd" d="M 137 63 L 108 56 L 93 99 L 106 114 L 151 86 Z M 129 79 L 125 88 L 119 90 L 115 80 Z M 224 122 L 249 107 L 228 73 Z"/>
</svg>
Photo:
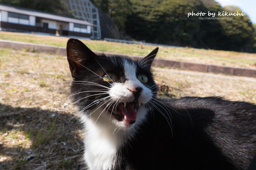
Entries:
<svg viewBox="0 0 256 170">
<path fill-rule="evenodd" d="M 157 51 L 133 61 L 97 55 L 81 41 L 69 39 L 71 95 L 83 117 L 123 128 L 143 122 L 156 91 L 151 64 Z"/>
</svg>

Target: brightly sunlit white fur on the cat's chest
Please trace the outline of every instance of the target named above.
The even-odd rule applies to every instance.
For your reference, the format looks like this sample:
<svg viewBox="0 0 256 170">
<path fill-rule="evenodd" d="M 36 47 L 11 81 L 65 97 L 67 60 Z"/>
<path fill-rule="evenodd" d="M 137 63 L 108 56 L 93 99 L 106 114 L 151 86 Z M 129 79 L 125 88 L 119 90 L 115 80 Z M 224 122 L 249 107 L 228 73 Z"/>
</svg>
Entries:
<svg viewBox="0 0 256 170">
<path fill-rule="evenodd" d="M 122 136 L 112 133 L 109 128 L 86 122 L 84 159 L 90 169 L 108 170 L 115 164 L 114 157 Z"/>
</svg>

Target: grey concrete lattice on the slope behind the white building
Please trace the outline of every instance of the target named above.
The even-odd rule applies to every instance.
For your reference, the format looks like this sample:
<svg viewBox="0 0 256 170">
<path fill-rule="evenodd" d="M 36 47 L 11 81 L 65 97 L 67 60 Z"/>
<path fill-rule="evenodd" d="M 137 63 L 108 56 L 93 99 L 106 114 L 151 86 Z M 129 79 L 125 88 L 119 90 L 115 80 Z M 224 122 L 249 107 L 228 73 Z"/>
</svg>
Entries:
<svg viewBox="0 0 256 170">
<path fill-rule="evenodd" d="M 89 0 L 64 0 L 72 15 L 93 24 L 92 39 L 101 39 L 99 11 Z"/>
</svg>

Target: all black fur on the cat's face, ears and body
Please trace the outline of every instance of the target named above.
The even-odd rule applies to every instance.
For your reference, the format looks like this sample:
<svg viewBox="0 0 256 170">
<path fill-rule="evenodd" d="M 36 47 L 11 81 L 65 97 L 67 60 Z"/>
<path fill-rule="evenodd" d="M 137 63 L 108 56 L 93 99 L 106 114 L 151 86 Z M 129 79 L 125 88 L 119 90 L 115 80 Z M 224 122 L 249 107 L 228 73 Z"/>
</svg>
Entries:
<svg viewBox="0 0 256 170">
<path fill-rule="evenodd" d="M 109 57 L 98 56 L 84 46 L 76 39 L 70 39 L 67 44 L 68 62 L 74 81 L 94 82 L 109 87 L 100 77 L 105 74 L 102 67 L 106 72 L 115 72 L 119 82 L 126 81 L 123 79 L 124 70 L 120 64 L 115 65 Z M 144 67 L 137 63 L 138 74 L 143 72 L 150 77 L 148 87 L 155 87 L 150 65 L 157 50 L 147 56 Z M 122 58 L 118 56 L 115 60 L 117 63 L 122 62 Z M 74 82 L 71 93 L 102 88 L 92 83 Z M 153 91 L 155 93 L 156 88 Z M 97 93 L 99 92 L 79 93 L 73 96 L 73 101 Z M 104 95 L 85 98 L 77 105 L 82 110 L 102 97 Z M 151 105 L 152 110 L 148 113 L 146 123 L 140 126 L 132 140 L 119 148 L 116 170 L 248 168 L 256 152 L 256 105 L 230 102 L 220 97 L 153 100 L 156 103 L 155 106 Z M 252 162 L 251 167 L 253 166 L 255 162 Z"/>
</svg>

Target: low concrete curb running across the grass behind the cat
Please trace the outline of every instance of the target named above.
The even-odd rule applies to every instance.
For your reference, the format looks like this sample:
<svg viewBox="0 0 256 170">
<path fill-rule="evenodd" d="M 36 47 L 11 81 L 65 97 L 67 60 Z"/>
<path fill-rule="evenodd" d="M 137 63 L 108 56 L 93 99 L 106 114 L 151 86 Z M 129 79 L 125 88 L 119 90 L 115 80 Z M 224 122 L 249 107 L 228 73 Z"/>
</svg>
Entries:
<svg viewBox="0 0 256 170">
<path fill-rule="evenodd" d="M 47 52 L 51 54 L 64 55 L 66 56 L 66 47 L 48 46 L 34 43 L 25 43 L 18 41 L 0 40 L 0 48 L 13 48 L 16 50 L 28 49 L 30 51 Z M 94 51 L 95 53 L 102 53 L 100 51 Z M 116 53 L 104 52 L 106 55 L 117 55 Z M 138 56 L 130 56 L 124 54 L 118 54 L 121 57 L 130 57 L 134 60 L 139 59 Z M 192 62 L 157 59 L 153 62 L 154 66 L 169 67 L 181 70 L 191 70 L 199 72 L 213 72 L 213 73 L 223 73 L 227 75 L 234 76 L 245 76 L 245 77 L 255 77 L 256 69 L 250 68 L 240 68 L 240 67 L 228 67 L 228 66 L 218 66 L 218 65 L 208 65 L 208 64 L 198 64 Z"/>
</svg>

